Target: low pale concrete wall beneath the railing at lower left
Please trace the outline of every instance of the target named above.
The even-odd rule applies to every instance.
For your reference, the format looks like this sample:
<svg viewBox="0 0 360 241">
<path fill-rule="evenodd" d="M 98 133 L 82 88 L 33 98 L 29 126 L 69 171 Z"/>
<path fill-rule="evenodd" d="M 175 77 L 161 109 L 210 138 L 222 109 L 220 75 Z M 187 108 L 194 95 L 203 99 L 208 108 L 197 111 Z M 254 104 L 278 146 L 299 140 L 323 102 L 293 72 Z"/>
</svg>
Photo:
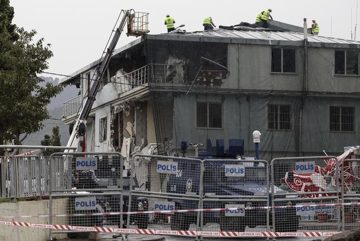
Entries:
<svg viewBox="0 0 360 241">
<path fill-rule="evenodd" d="M 53 213 L 66 213 L 67 199 L 53 200 Z M 48 214 L 48 200 L 42 201 L 19 201 L 19 202 L 2 202 L 0 203 L 1 216 L 22 216 L 22 215 L 39 215 Z M 31 222 L 38 224 L 49 224 L 49 218 L 12 218 L 4 221 Z M 66 218 L 58 219 L 67 224 Z M 29 228 L 20 226 L 1 225 L 1 241 L 47 241 L 49 229 Z M 56 234 L 57 239 L 66 238 L 66 234 Z"/>
</svg>

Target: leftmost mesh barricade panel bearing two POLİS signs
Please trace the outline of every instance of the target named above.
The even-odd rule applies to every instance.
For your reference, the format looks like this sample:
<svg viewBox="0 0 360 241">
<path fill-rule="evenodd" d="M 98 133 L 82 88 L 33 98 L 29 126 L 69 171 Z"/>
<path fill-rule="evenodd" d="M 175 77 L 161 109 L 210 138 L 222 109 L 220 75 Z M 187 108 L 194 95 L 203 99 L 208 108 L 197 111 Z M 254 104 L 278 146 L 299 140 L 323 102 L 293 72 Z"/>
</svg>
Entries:
<svg viewBox="0 0 360 241">
<path fill-rule="evenodd" d="M 126 215 L 101 215 L 105 212 L 128 211 L 129 192 L 123 187 L 127 185 L 129 188 L 130 178 L 123 178 L 123 158 L 120 153 L 54 153 L 50 156 L 49 166 L 49 223 L 72 226 L 71 231 L 66 228 L 50 229 L 50 240 L 54 233 L 91 230 L 83 226 L 123 227 Z M 63 199 L 56 202 L 60 206 L 53 206 L 53 199 L 59 198 Z M 54 212 L 68 215 L 52 217 Z M 76 215 L 85 213 L 87 215 Z"/>
</svg>

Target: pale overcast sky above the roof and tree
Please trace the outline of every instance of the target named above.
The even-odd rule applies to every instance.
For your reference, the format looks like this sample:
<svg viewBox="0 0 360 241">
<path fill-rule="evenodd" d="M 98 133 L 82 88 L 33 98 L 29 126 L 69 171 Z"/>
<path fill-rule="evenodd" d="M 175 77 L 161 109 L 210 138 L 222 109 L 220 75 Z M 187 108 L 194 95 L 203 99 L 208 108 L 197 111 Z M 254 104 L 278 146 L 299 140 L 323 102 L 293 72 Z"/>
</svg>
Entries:
<svg viewBox="0 0 360 241">
<path fill-rule="evenodd" d="M 10 0 L 14 7 L 13 23 L 38 32 L 36 40 L 51 43 L 54 56 L 48 72 L 70 75 L 98 59 L 111 34 L 121 9 L 148 12 L 149 34 L 165 33 L 164 19 L 169 13 L 176 24 L 185 24 L 187 32 L 203 30 L 204 18 L 211 16 L 215 25 L 231 26 L 254 23 L 256 14 L 271 8 L 274 20 L 303 26 L 316 19 L 320 35 L 339 39 L 355 38 L 358 0 Z M 360 6 L 358 7 L 358 13 Z M 358 14 L 358 23 L 360 14 Z M 360 39 L 358 26 L 356 39 Z M 117 48 L 135 40 L 120 37 Z M 44 76 L 55 75 L 43 74 Z M 62 79 L 62 77 L 59 77 Z"/>
</svg>

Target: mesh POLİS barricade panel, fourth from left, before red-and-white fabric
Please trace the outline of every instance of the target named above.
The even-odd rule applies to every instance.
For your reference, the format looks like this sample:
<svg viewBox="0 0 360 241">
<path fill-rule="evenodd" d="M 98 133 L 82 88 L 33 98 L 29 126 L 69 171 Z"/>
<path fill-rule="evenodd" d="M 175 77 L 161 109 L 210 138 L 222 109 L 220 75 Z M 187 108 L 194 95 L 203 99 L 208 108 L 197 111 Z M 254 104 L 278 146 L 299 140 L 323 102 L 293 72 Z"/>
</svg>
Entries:
<svg viewBox="0 0 360 241">
<path fill-rule="evenodd" d="M 273 159 L 271 205 L 305 206 L 273 209 L 272 230 L 274 232 L 340 231 L 340 206 L 306 206 L 339 203 L 338 178 L 339 162 L 333 156 Z M 283 214 L 276 216 L 277 212 Z"/>
</svg>

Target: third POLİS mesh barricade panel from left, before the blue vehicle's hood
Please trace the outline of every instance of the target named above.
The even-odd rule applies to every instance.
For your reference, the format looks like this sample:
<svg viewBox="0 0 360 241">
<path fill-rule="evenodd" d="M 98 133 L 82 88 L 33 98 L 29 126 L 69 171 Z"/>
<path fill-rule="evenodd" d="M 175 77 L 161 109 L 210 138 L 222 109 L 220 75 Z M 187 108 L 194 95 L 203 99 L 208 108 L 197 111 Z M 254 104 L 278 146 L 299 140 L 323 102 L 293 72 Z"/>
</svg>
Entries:
<svg viewBox="0 0 360 241">
<path fill-rule="evenodd" d="M 203 208 L 269 206 L 269 163 L 204 160 L 203 192 Z M 269 209 L 201 212 L 201 217 L 204 231 L 269 231 Z"/>
</svg>

